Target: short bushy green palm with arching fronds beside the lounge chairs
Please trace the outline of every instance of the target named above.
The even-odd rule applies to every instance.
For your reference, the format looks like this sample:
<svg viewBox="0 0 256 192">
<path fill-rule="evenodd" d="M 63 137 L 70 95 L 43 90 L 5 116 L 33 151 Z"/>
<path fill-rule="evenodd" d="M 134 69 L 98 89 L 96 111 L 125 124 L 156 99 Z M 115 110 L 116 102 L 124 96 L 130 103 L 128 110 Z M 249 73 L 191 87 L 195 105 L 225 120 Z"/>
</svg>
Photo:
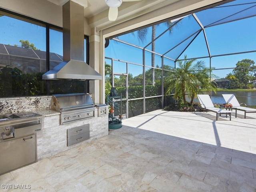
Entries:
<svg viewBox="0 0 256 192">
<path fill-rule="evenodd" d="M 207 68 L 203 61 L 198 61 L 194 64 L 196 59 L 178 60 L 178 67 L 174 72 L 166 78 L 164 86 L 166 88 L 165 94 L 170 95 L 174 92 L 174 97 L 182 96 L 183 103 L 186 104 L 186 94 L 190 95 L 190 104 L 193 103 L 196 94 L 200 93 L 201 88 L 207 91 L 213 90 L 216 92 L 216 86 L 210 80 L 211 71 L 213 68 Z"/>
</svg>

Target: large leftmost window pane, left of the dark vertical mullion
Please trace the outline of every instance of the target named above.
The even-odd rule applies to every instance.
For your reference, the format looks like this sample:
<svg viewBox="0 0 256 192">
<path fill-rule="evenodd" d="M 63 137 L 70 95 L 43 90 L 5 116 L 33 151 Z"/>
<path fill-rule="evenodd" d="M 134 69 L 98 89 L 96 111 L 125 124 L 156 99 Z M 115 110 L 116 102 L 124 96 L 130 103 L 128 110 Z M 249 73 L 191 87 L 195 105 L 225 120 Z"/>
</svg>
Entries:
<svg viewBox="0 0 256 192">
<path fill-rule="evenodd" d="M 46 94 L 46 25 L 0 14 L 0 96 Z"/>
</svg>

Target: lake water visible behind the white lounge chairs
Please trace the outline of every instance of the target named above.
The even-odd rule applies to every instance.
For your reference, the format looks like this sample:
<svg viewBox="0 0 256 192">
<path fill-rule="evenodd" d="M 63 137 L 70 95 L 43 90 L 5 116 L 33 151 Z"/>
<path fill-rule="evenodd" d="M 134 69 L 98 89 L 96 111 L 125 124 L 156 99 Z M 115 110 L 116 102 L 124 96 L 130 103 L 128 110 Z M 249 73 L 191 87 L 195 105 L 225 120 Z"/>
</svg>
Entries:
<svg viewBox="0 0 256 192">
<path fill-rule="evenodd" d="M 206 92 L 204 94 L 207 94 Z M 239 103 L 245 103 L 248 107 L 256 108 L 256 91 L 244 92 L 244 91 L 236 91 L 236 92 L 225 92 L 218 91 L 216 94 L 212 93 L 212 102 L 214 104 L 224 104 L 226 103 L 222 94 L 234 94 Z M 198 102 L 196 99 L 195 102 Z"/>
</svg>

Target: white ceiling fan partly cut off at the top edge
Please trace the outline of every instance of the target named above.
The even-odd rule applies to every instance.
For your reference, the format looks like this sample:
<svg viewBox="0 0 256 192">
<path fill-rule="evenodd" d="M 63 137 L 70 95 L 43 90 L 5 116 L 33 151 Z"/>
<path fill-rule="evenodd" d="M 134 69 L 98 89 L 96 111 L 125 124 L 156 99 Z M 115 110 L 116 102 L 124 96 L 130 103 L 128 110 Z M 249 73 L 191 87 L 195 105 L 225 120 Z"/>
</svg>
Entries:
<svg viewBox="0 0 256 192">
<path fill-rule="evenodd" d="M 118 16 L 118 7 L 122 2 L 130 1 L 141 1 L 141 0 L 105 0 L 106 4 L 109 6 L 108 10 L 108 20 L 115 21 Z"/>
</svg>

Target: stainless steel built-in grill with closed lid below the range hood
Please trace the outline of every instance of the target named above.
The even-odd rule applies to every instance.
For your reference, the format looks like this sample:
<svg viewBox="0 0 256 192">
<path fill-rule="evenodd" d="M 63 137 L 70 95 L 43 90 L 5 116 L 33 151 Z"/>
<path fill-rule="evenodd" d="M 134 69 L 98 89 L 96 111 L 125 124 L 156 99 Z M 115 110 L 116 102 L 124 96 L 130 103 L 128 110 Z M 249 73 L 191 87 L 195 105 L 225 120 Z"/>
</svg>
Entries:
<svg viewBox="0 0 256 192">
<path fill-rule="evenodd" d="M 88 93 L 53 95 L 50 103 L 52 110 L 61 113 L 60 124 L 93 118 L 96 116 L 96 107 Z"/>
</svg>

